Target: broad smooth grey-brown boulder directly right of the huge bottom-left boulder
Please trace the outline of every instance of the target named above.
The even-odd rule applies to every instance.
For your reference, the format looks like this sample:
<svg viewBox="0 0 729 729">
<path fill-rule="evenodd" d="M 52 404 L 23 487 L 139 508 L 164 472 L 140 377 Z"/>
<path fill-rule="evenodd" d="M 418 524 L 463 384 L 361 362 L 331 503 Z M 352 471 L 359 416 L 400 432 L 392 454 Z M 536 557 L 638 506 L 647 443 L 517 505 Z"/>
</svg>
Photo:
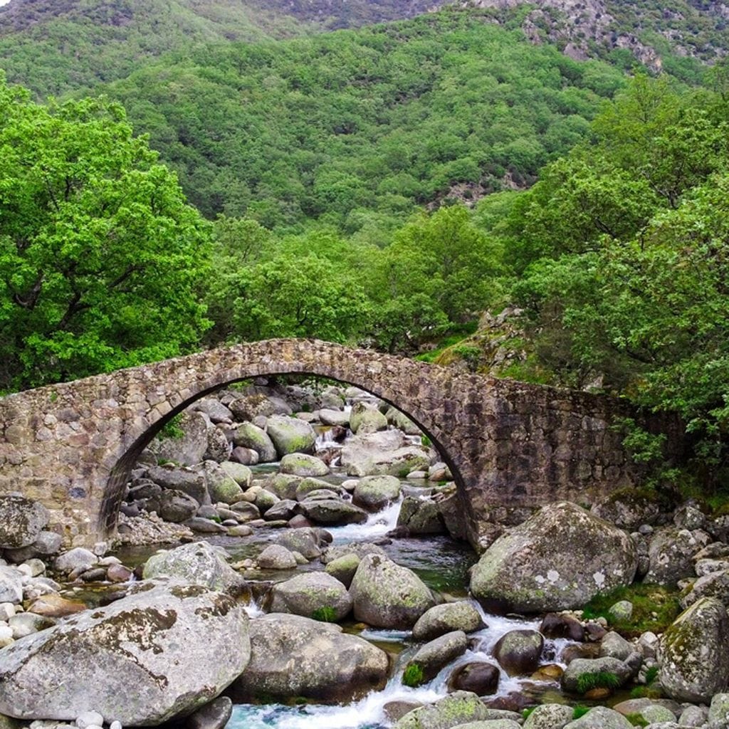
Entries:
<svg viewBox="0 0 729 729">
<path fill-rule="evenodd" d="M 270 613 L 251 621 L 252 657 L 233 684 L 238 701 L 350 701 L 385 685 L 387 654 L 339 625 Z"/>
</svg>

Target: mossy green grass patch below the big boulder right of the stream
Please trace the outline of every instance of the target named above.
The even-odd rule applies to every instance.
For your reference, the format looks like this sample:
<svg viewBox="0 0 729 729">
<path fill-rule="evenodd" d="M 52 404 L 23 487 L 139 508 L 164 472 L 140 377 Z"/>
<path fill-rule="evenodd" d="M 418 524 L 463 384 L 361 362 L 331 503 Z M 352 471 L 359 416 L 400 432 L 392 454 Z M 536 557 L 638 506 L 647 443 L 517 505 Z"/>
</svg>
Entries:
<svg viewBox="0 0 729 729">
<path fill-rule="evenodd" d="M 633 613 L 628 620 L 615 620 L 608 612 L 609 608 L 622 600 L 633 604 Z M 594 597 L 585 606 L 583 617 L 585 620 L 604 617 L 621 634 L 637 637 L 646 631 L 663 633 L 680 612 L 679 595 L 675 590 L 636 582 L 634 585 Z"/>
</svg>

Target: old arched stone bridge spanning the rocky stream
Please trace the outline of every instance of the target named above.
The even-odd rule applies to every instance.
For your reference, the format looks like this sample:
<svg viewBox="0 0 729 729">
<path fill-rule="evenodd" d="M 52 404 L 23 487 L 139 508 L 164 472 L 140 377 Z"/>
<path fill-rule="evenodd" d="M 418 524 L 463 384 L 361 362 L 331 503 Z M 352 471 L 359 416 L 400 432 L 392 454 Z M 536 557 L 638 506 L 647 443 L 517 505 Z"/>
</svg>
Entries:
<svg viewBox="0 0 729 729">
<path fill-rule="evenodd" d="M 114 533 L 130 469 L 196 399 L 259 375 L 351 383 L 402 410 L 437 445 L 459 487 L 472 542 L 488 511 L 589 502 L 640 474 L 607 397 L 499 380 L 316 340 L 270 340 L 169 359 L 0 399 L 0 494 L 52 512 L 69 545 Z"/>
</svg>

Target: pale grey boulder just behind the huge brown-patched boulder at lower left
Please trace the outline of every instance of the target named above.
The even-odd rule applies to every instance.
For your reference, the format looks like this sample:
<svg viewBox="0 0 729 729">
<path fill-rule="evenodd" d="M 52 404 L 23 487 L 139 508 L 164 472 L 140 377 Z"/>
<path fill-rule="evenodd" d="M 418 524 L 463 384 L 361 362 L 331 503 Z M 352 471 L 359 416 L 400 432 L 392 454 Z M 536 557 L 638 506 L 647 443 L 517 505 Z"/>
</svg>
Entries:
<svg viewBox="0 0 729 729">
<path fill-rule="evenodd" d="M 168 552 L 152 555 L 144 565 L 144 579 L 172 577 L 190 585 L 211 590 L 233 592 L 243 587 L 244 580 L 225 561 L 225 551 L 207 542 L 195 542 Z"/>
</svg>

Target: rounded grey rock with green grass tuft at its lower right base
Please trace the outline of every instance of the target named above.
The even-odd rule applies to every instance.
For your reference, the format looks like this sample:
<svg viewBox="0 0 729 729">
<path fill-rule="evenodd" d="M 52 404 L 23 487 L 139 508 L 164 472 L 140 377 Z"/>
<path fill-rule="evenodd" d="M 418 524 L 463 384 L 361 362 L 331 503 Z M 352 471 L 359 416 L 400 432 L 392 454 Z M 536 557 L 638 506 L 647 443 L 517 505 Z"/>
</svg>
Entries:
<svg viewBox="0 0 729 729">
<path fill-rule="evenodd" d="M 273 587 L 270 612 L 290 612 L 314 620 L 342 620 L 352 609 L 347 588 L 326 572 L 297 574 Z"/>
</svg>

